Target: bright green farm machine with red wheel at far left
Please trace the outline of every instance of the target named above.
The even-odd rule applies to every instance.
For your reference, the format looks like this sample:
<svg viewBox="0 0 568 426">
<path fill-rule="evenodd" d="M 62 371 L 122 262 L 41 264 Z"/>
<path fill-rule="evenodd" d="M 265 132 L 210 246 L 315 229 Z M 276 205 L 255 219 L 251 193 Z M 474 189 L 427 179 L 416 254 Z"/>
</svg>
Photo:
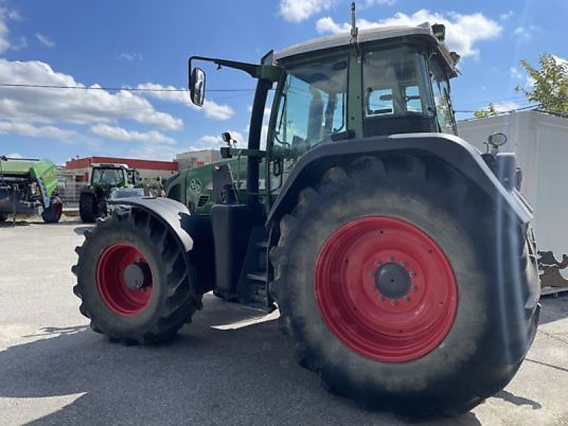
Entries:
<svg viewBox="0 0 568 426">
<path fill-rule="evenodd" d="M 9 214 L 33 216 L 41 211 L 45 223 L 59 222 L 63 203 L 58 197 L 55 164 L 48 158 L 0 157 L 0 222 Z"/>
</svg>

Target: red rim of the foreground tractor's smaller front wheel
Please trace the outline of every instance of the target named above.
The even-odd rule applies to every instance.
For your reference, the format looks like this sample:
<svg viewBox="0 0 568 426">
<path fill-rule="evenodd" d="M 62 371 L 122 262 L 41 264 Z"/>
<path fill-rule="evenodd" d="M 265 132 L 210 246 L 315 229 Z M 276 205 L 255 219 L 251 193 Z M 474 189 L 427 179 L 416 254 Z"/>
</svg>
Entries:
<svg viewBox="0 0 568 426">
<path fill-rule="evenodd" d="M 126 268 L 133 265 L 145 272 L 139 288 L 129 287 L 124 276 Z M 97 289 L 104 304 L 115 314 L 124 317 L 140 314 L 152 297 L 152 273 L 146 258 L 131 244 L 108 246 L 97 263 Z"/>
</svg>

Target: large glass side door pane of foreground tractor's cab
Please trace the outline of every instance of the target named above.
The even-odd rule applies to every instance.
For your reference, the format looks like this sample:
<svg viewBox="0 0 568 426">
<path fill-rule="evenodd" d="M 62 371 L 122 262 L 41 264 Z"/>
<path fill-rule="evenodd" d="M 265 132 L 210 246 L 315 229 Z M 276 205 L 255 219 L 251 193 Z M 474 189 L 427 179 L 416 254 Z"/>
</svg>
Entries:
<svg viewBox="0 0 568 426">
<path fill-rule="evenodd" d="M 301 153 L 346 130 L 347 63 L 335 55 L 287 69 L 275 145 Z"/>
</svg>

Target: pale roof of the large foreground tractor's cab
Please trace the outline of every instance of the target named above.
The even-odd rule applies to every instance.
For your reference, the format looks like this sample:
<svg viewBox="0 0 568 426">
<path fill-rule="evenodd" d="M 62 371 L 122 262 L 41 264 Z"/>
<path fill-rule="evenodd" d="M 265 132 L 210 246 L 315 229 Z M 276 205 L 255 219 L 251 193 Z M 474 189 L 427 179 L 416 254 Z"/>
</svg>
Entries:
<svg viewBox="0 0 568 426">
<path fill-rule="evenodd" d="M 431 38 L 432 43 L 436 43 L 435 45 L 437 45 L 439 52 L 442 53 L 447 65 L 450 70 L 452 70 L 452 74 L 455 72 L 455 62 L 457 62 L 457 60 L 452 58 L 445 43 L 435 36 L 432 31 L 432 26 L 430 26 L 430 23 L 427 22 L 421 23 L 418 26 L 383 26 L 359 30 L 358 40 L 359 43 L 368 43 L 370 41 L 388 40 L 391 38 L 402 38 L 413 35 Z M 338 48 L 349 45 L 350 43 L 351 34 L 349 31 L 335 35 L 328 35 L 327 37 L 315 38 L 313 40 L 305 41 L 304 43 L 290 46 L 289 48 L 285 48 L 279 52 L 275 52 L 273 60 L 278 61 L 296 55 L 301 55 L 302 53 Z"/>
</svg>

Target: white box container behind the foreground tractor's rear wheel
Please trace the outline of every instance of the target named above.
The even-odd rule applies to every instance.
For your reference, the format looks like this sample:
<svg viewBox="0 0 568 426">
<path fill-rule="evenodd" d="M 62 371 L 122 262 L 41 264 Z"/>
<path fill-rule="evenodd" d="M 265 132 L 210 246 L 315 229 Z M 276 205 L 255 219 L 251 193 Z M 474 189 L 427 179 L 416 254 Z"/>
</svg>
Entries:
<svg viewBox="0 0 568 426">
<path fill-rule="evenodd" d="M 523 173 L 520 192 L 535 209 L 535 236 L 540 251 L 562 259 L 568 253 L 568 119 L 539 111 L 459 121 L 461 138 L 486 151 L 494 132 L 508 138 L 500 152 L 514 152 Z M 568 271 L 568 270 L 564 270 Z M 562 271 L 564 275 L 564 271 Z"/>
</svg>

